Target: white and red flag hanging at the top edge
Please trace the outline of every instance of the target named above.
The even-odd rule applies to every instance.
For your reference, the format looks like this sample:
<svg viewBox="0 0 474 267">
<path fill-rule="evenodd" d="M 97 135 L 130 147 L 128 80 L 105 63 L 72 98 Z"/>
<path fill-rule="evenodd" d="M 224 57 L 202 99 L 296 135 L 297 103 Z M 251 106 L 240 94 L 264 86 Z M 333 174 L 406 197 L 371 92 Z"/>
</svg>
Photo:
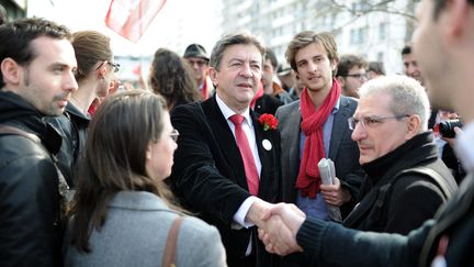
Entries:
<svg viewBox="0 0 474 267">
<path fill-rule="evenodd" d="M 112 0 L 105 25 L 136 43 L 165 2 L 166 0 Z"/>
</svg>

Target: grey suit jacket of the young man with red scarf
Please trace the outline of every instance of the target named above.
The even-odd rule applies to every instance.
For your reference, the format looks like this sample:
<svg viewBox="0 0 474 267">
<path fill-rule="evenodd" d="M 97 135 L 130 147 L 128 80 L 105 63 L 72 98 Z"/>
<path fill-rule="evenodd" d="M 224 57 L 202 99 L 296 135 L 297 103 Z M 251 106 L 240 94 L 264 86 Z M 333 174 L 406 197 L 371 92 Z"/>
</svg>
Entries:
<svg viewBox="0 0 474 267">
<path fill-rule="evenodd" d="M 364 179 L 364 171 L 359 165 L 359 148 L 351 140 L 352 131 L 349 130 L 348 119 L 354 113 L 357 100 L 340 97 L 339 110 L 335 113 L 331 140 L 329 145 L 329 158 L 335 163 L 336 176 L 342 186 L 347 187 L 352 199 L 359 193 L 359 188 Z M 285 104 L 276 110 L 281 132 L 281 159 L 283 177 L 283 198 L 285 202 L 295 203 L 295 182 L 300 171 L 300 133 L 301 110 L 300 100 Z M 317 164 L 317 163 L 314 163 Z M 341 212 L 345 218 L 352 210 L 354 201 L 342 204 Z"/>
</svg>

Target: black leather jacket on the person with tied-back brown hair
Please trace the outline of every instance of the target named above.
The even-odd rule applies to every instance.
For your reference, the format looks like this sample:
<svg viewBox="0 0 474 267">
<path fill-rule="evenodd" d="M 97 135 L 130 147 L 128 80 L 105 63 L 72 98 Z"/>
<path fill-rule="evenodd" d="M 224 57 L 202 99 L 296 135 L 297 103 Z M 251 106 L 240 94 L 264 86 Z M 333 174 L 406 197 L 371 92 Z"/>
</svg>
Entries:
<svg viewBox="0 0 474 267">
<path fill-rule="evenodd" d="M 69 187 L 74 187 L 77 163 L 86 147 L 90 116 L 83 114 L 74 104 L 68 102 L 63 115 L 49 116 L 47 122 L 50 123 L 63 137 L 60 151 L 57 154 L 58 167 Z"/>
</svg>

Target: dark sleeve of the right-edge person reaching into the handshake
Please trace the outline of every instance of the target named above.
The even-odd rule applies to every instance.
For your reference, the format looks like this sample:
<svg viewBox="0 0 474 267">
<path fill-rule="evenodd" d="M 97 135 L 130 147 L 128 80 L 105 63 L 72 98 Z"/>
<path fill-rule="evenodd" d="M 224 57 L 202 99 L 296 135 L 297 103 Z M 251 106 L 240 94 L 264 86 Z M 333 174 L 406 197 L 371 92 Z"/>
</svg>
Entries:
<svg viewBox="0 0 474 267">
<path fill-rule="evenodd" d="M 444 236 L 448 242 L 441 251 L 444 251 L 445 266 L 474 266 L 473 211 L 474 173 L 471 173 L 435 219 L 408 235 L 354 231 L 307 218 L 296 240 L 317 259 L 318 266 L 428 267 L 439 253 L 440 238 Z"/>
</svg>

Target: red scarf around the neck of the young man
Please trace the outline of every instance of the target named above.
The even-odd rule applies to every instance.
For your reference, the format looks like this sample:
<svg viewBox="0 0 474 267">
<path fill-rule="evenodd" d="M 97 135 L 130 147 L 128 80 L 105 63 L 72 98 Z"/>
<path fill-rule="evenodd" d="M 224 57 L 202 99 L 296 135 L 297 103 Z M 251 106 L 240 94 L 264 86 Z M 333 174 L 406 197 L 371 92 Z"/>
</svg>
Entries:
<svg viewBox="0 0 474 267">
<path fill-rule="evenodd" d="M 323 142 L 323 124 L 332 112 L 341 93 L 341 88 L 336 79 L 332 79 L 332 88 L 324 100 L 321 107 L 316 110 L 307 89 L 303 89 L 301 96 L 301 113 L 303 122 L 301 127 L 306 135 L 303 149 L 303 158 L 300 174 L 296 179 L 296 188 L 302 191 L 303 197 L 316 198 L 321 183 L 317 164 L 325 157 Z"/>
</svg>

